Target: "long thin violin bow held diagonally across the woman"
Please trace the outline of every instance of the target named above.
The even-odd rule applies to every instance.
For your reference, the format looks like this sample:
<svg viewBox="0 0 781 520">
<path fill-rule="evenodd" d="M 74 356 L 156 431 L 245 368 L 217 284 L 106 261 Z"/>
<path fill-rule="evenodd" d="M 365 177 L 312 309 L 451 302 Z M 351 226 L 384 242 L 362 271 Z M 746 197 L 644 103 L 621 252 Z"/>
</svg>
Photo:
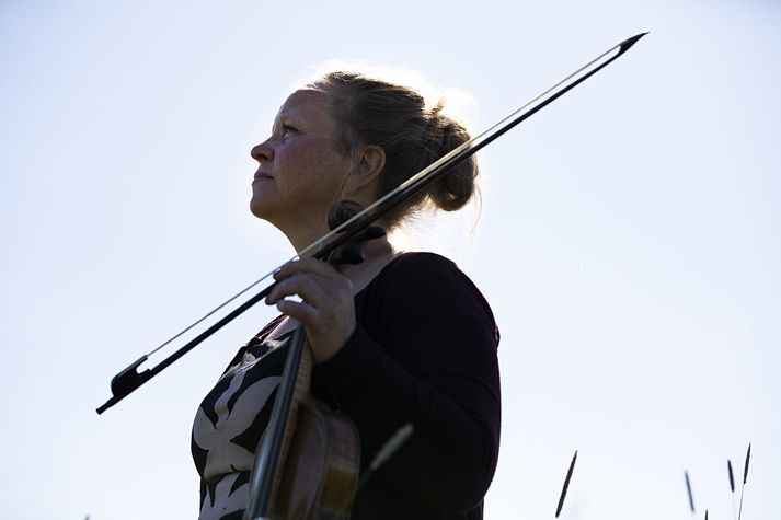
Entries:
<svg viewBox="0 0 781 520">
<path fill-rule="evenodd" d="M 459 147 L 455 148 L 447 154 L 443 155 L 440 159 L 437 161 L 433 162 L 430 165 L 426 166 L 425 169 L 421 170 L 413 176 L 411 176 L 409 180 L 403 182 L 401 185 L 399 185 L 395 189 L 392 189 L 384 196 L 380 197 L 371 204 L 370 206 L 367 206 L 364 210 L 357 212 L 355 216 L 352 218 L 347 219 L 344 221 L 342 224 L 338 227 L 334 228 L 320 239 L 315 240 L 311 244 L 309 244 L 307 247 L 303 250 L 299 251 L 295 256 L 292 256 L 288 262 L 294 261 L 296 258 L 300 258 L 302 256 L 311 254 L 315 258 L 324 259 L 328 258 L 329 254 L 333 252 L 335 249 L 340 247 L 344 243 L 353 240 L 356 238 L 359 233 L 366 232 L 368 227 L 377 221 L 379 218 L 388 213 L 391 209 L 393 209 L 397 205 L 399 205 L 401 201 L 405 200 L 410 196 L 418 193 L 433 182 L 435 182 L 437 178 L 441 177 L 446 173 L 450 171 L 456 164 L 460 163 L 461 161 L 468 159 L 469 157 L 475 154 L 478 151 L 493 142 L 495 139 L 497 139 L 499 136 L 503 136 L 510 129 L 515 128 L 517 125 L 522 123 L 524 120 L 528 119 L 532 115 L 537 114 L 540 109 L 543 107 L 548 106 L 565 93 L 570 92 L 572 89 L 581 84 L 582 82 L 586 81 L 588 78 L 596 74 L 599 72 L 601 69 L 610 65 L 613 60 L 616 60 L 618 57 L 622 56 L 627 50 L 629 50 L 640 38 L 645 36 L 647 33 L 641 33 L 635 36 L 632 36 L 631 38 L 627 38 L 623 42 L 619 43 L 618 45 L 615 45 L 610 49 L 606 50 L 601 55 L 597 56 L 594 58 L 592 61 L 584 65 L 579 69 L 577 69 L 575 72 L 571 73 L 550 89 L 545 90 L 542 92 L 540 95 L 535 97 L 533 100 L 529 101 L 525 105 L 520 106 L 509 115 L 507 115 L 505 118 L 483 131 L 482 134 L 473 137 L 472 139 L 468 140 L 467 142 L 460 145 Z M 276 269 L 275 269 L 276 270 Z M 143 383 L 149 381 L 151 378 L 163 371 L 165 368 L 168 368 L 170 365 L 172 365 L 174 361 L 176 361 L 179 358 L 187 354 L 189 350 L 195 348 L 197 345 L 203 343 L 206 338 L 211 336 L 214 333 L 222 328 L 225 325 L 233 321 L 237 316 L 242 314 L 244 311 L 253 307 L 255 303 L 259 301 L 263 300 L 271 290 L 274 288 L 276 282 L 272 284 L 271 286 L 266 287 L 262 291 L 257 292 L 253 297 L 249 298 L 246 301 L 241 303 L 239 307 L 230 311 L 227 315 L 221 317 L 219 321 L 217 321 L 214 325 L 209 326 L 206 331 L 203 333 L 198 334 L 195 338 L 189 340 L 187 344 L 179 348 L 176 351 L 171 354 L 168 358 L 163 359 L 160 361 L 158 365 L 156 365 L 152 368 L 148 368 L 143 370 L 142 372 L 138 372 L 138 368 L 149 359 L 150 356 L 156 354 L 158 350 L 162 349 L 166 345 L 171 344 L 182 335 L 186 334 L 200 323 L 203 323 L 205 320 L 217 313 L 218 311 L 225 309 L 228 304 L 231 302 L 236 301 L 239 297 L 248 292 L 250 289 L 253 287 L 257 286 L 261 281 L 267 279 L 272 274 L 268 273 L 265 275 L 263 278 L 260 278 L 259 280 L 254 281 L 243 290 L 241 290 L 239 293 L 236 296 L 231 297 L 229 300 L 227 300 L 225 303 L 220 304 L 213 311 L 208 312 L 206 315 L 204 315 L 200 320 L 196 321 L 192 325 L 187 326 L 176 335 L 172 336 L 170 339 L 166 342 L 162 343 L 160 346 L 154 348 L 152 351 L 145 354 L 140 358 L 138 358 L 136 361 L 130 363 L 126 369 L 122 370 L 119 373 L 114 375 L 114 378 L 111 381 L 111 391 L 112 391 L 112 396 L 106 401 L 102 406 L 100 406 L 96 412 L 99 414 L 102 414 L 110 407 L 114 406 L 117 404 L 119 401 L 125 398 L 128 394 L 130 394 L 133 391 L 141 386 Z"/>
</svg>

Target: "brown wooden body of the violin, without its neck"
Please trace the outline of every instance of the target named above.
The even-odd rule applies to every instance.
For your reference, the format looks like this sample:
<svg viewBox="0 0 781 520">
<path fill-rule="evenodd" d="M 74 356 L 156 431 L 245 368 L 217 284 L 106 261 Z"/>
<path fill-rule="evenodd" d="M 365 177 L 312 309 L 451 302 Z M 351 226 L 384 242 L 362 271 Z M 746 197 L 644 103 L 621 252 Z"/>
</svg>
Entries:
<svg viewBox="0 0 781 520">
<path fill-rule="evenodd" d="M 272 519 L 347 520 L 360 469 L 358 430 L 311 397 L 297 415 Z"/>
</svg>

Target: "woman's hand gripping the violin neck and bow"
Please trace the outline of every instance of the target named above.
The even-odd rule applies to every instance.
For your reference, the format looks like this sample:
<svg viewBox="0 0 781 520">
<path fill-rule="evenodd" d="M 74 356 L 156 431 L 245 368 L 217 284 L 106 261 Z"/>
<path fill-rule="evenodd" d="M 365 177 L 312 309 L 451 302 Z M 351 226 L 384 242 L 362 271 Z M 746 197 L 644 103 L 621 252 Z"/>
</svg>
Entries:
<svg viewBox="0 0 781 520">
<path fill-rule="evenodd" d="M 355 331 L 353 282 L 314 258 L 285 264 L 274 279 L 266 303 L 303 325 L 315 363 L 330 359 Z M 302 301 L 284 299 L 289 296 Z"/>
</svg>

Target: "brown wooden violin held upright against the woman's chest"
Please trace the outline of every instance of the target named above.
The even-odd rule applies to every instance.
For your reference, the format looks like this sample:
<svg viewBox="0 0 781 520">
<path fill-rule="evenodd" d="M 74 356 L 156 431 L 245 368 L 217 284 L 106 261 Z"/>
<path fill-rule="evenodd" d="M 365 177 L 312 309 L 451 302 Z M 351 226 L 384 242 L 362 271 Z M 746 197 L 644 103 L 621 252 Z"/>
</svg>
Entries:
<svg viewBox="0 0 781 520">
<path fill-rule="evenodd" d="M 360 206 L 343 200 L 331 208 L 329 227 L 338 228 Z M 369 240 L 384 236 L 369 227 L 334 249 L 326 262 L 337 267 L 363 262 Z M 255 451 L 245 520 L 346 520 L 358 485 L 360 441 L 353 421 L 309 393 L 312 353 L 297 328 L 277 386 L 271 418 Z"/>
</svg>

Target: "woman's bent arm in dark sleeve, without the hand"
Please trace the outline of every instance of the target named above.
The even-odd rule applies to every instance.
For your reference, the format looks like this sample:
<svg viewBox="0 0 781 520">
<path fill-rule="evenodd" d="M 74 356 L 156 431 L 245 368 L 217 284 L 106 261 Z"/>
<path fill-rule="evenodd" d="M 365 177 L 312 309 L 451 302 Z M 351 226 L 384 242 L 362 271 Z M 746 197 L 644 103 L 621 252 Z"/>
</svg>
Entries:
<svg viewBox="0 0 781 520">
<path fill-rule="evenodd" d="M 406 423 L 413 437 L 374 478 L 436 511 L 482 500 L 498 457 L 498 333 L 482 294 L 434 254 L 398 258 L 357 298 L 358 325 L 317 367 L 361 435 L 364 464 Z"/>
</svg>

